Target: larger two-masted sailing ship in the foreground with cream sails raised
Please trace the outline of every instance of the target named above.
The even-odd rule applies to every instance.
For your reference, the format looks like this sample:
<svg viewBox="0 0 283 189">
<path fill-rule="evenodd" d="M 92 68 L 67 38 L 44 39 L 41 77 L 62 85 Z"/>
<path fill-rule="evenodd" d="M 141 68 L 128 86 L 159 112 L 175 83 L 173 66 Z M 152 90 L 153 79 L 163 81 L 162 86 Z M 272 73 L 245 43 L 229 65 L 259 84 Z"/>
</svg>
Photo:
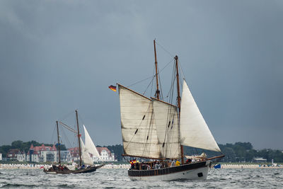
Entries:
<svg viewBox="0 0 283 189">
<path fill-rule="evenodd" d="M 206 179 L 212 159 L 205 155 L 185 162 L 183 145 L 219 151 L 212 133 L 204 121 L 185 79 L 180 97 L 178 56 L 174 57 L 177 103 L 160 99 L 156 42 L 154 40 L 156 69 L 155 97 L 148 98 L 126 86 L 118 85 L 124 155 L 134 158 L 128 170 L 133 181 L 173 181 L 178 179 Z M 172 86 L 171 86 L 172 87 Z M 181 100 L 182 99 L 182 100 Z M 146 159 L 146 162 L 137 163 Z M 180 163 L 180 161 L 181 163 Z"/>
</svg>

